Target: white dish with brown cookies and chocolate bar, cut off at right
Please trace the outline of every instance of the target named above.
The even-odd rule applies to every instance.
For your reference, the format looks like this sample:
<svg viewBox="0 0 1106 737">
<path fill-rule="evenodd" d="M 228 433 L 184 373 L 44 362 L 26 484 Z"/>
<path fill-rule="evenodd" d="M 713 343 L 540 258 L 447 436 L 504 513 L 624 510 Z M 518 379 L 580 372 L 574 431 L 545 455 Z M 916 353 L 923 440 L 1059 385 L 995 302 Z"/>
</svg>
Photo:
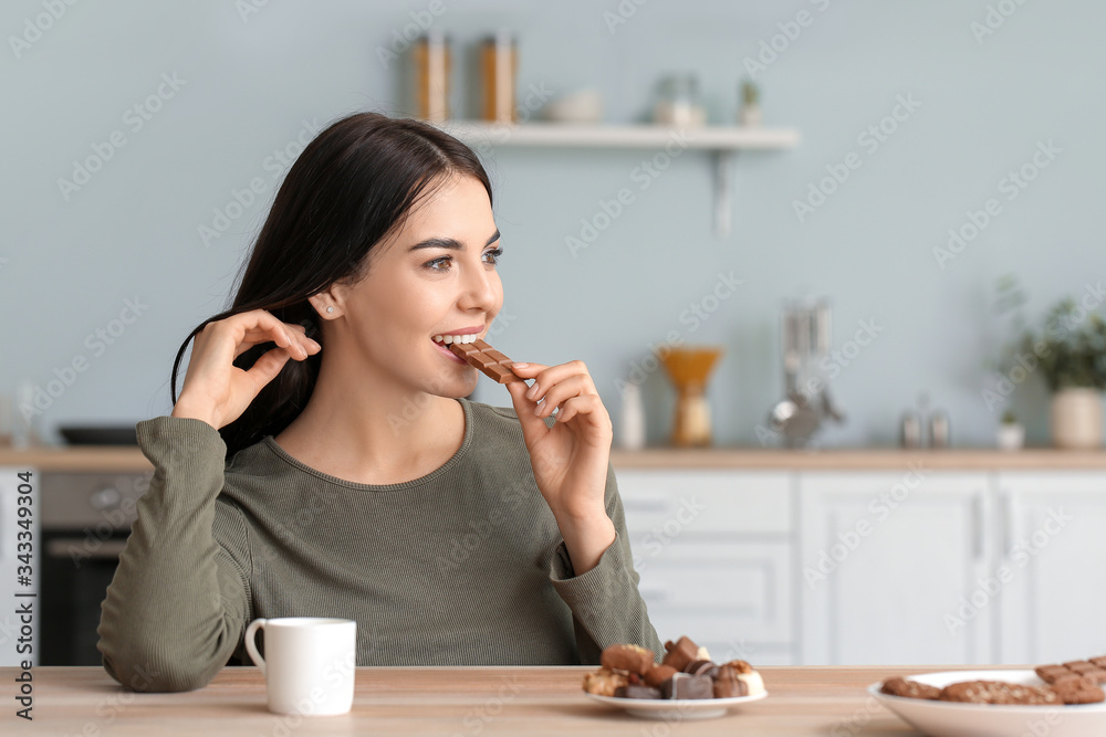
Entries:
<svg viewBox="0 0 1106 737">
<path fill-rule="evenodd" d="M 1033 671 L 946 671 L 895 676 L 868 693 L 931 737 L 1102 737 L 1106 657 Z"/>
</svg>

